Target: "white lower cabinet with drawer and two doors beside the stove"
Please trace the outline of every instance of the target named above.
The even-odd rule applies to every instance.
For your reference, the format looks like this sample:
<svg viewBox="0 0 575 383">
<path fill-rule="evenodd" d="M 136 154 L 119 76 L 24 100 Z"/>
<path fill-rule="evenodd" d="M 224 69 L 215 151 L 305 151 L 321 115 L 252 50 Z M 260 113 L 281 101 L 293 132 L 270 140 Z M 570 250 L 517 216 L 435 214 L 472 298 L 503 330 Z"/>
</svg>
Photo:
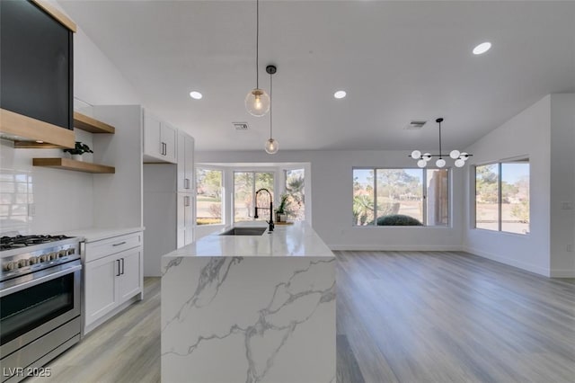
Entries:
<svg viewBox="0 0 575 383">
<path fill-rule="evenodd" d="M 142 232 L 84 246 L 84 334 L 142 298 Z"/>
</svg>

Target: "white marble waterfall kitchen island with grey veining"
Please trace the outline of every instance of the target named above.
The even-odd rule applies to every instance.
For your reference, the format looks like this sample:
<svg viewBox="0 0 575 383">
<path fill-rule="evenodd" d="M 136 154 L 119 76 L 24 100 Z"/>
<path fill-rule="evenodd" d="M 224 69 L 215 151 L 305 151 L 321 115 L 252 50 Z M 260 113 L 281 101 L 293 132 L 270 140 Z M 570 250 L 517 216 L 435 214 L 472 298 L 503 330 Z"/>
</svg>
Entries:
<svg viewBox="0 0 575 383">
<path fill-rule="evenodd" d="M 304 223 L 164 255 L 162 380 L 335 382 L 335 263 Z"/>
</svg>

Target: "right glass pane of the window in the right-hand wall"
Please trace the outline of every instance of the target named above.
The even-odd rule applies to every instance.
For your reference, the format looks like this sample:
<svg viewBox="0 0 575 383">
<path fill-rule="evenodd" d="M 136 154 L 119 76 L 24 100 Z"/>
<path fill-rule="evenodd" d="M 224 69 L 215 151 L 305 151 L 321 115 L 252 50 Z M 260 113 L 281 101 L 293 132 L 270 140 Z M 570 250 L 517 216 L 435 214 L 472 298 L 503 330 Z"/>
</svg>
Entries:
<svg viewBox="0 0 575 383">
<path fill-rule="evenodd" d="M 501 231 L 529 233 L 529 163 L 501 163 Z"/>
</svg>

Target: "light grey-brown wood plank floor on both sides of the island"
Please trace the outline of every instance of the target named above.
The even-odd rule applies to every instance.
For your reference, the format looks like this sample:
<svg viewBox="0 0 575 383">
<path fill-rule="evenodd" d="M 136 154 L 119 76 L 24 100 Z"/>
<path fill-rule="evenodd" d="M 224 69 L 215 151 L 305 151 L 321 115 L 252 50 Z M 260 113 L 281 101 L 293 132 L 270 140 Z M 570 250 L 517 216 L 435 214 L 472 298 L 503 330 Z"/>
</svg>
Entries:
<svg viewBox="0 0 575 383">
<path fill-rule="evenodd" d="M 575 280 L 455 252 L 336 254 L 339 383 L 575 382 Z M 159 381 L 159 279 L 145 289 L 30 381 Z"/>
</svg>

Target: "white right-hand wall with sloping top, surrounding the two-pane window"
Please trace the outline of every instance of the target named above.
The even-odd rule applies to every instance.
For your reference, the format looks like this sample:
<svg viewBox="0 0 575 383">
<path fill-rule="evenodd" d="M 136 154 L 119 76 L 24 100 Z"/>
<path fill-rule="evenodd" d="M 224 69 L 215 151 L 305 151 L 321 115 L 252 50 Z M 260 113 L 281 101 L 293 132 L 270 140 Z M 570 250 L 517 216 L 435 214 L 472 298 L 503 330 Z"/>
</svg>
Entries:
<svg viewBox="0 0 575 383">
<path fill-rule="evenodd" d="M 551 98 L 546 96 L 466 149 L 473 157 L 467 168 L 465 204 L 470 209 L 466 209 L 465 249 L 544 275 L 550 274 L 550 116 Z M 474 228 L 473 165 L 517 156 L 529 157 L 530 233 L 516 235 Z"/>
</svg>

